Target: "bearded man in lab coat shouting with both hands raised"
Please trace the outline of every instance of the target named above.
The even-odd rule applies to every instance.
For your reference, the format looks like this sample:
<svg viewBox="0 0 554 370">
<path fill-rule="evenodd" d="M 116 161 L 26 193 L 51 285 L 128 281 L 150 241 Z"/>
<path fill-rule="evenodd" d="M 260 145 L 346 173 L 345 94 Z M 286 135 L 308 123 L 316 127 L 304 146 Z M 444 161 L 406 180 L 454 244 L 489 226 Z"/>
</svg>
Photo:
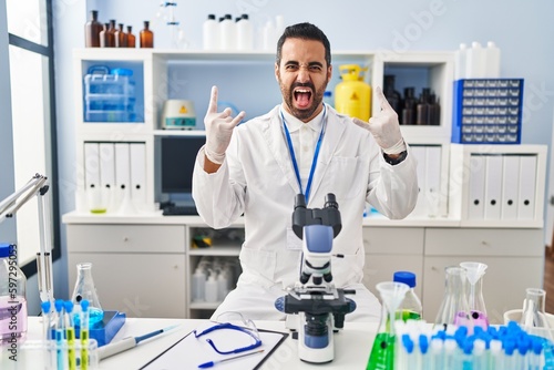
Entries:
<svg viewBox="0 0 554 370">
<path fill-rule="evenodd" d="M 365 263 L 362 216 L 366 202 L 389 218 L 414 207 L 416 161 L 403 141 L 398 116 L 380 89 L 381 111 L 368 122 L 322 103 L 331 79 L 330 44 L 310 23 L 286 28 L 277 43 L 275 78 L 283 102 L 238 125 L 245 113 L 217 112 L 217 88 L 204 119 L 206 145 L 198 152 L 193 197 L 207 225 L 224 228 L 244 215 L 243 274 L 214 314 L 240 311 L 252 319 L 285 319 L 274 307 L 299 279 L 301 240 L 291 230 L 295 197 L 322 208 L 334 193 L 342 229 L 331 259 L 338 288 L 356 289 L 347 320 L 378 320 L 380 305 L 361 284 Z"/>
</svg>

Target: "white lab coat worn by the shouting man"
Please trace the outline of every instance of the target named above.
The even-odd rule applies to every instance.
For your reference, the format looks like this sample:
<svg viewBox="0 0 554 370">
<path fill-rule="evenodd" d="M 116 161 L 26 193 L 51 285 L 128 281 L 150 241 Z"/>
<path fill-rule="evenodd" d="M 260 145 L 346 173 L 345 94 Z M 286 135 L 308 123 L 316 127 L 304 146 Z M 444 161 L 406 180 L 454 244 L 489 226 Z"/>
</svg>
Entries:
<svg viewBox="0 0 554 370">
<path fill-rule="evenodd" d="M 359 288 L 366 258 L 362 239 L 366 201 L 389 218 L 406 217 L 418 197 L 416 160 L 408 147 L 407 158 L 391 166 L 384 162 L 369 131 L 332 109 L 328 109 L 327 116 L 307 207 L 321 208 L 328 193 L 336 195 L 342 229 L 334 240 L 332 251 L 345 257 L 331 260 L 334 282 L 337 287 Z M 202 148 L 193 175 L 193 198 L 202 218 L 214 228 L 227 227 L 243 214 L 245 222 L 238 289 L 218 311 L 236 310 L 248 302 L 250 317 L 275 318 L 270 312 L 279 312 L 273 305 L 260 307 L 253 295 L 264 296 L 266 291 L 267 302 L 274 301 L 276 296 L 285 295 L 284 288 L 298 280 L 300 267 L 300 251 L 287 247 L 290 245 L 287 238 L 293 237 L 295 196 L 300 191 L 279 105 L 235 129 L 225 162 L 216 173 L 207 174 L 203 166 Z M 255 288 L 248 290 L 248 287 Z M 240 301 L 242 298 L 245 299 Z M 375 297 L 370 300 L 377 305 L 371 315 L 378 318 L 379 304 Z M 260 305 L 265 304 L 260 300 Z"/>
</svg>

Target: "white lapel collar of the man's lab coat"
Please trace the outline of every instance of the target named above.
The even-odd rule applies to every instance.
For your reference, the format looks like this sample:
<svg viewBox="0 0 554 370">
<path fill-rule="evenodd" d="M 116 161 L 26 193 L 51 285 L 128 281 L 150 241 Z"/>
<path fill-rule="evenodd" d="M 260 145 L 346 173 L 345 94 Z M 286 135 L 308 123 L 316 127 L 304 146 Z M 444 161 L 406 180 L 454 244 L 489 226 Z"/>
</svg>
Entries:
<svg viewBox="0 0 554 370">
<path fill-rule="evenodd" d="M 267 146 L 271 151 L 275 161 L 278 163 L 280 169 L 290 187 L 295 193 L 299 192 L 298 182 L 296 179 L 295 169 L 293 167 L 293 162 L 290 160 L 290 155 L 288 154 L 287 140 L 285 137 L 285 133 L 283 131 L 283 122 L 280 119 L 280 106 L 277 105 L 269 113 L 269 120 L 265 121 L 266 126 L 263 130 L 264 138 L 266 141 Z M 314 174 L 314 182 L 311 184 L 311 195 L 308 199 L 308 205 L 315 198 L 317 194 L 318 187 L 321 184 L 321 181 L 325 177 L 331 157 L 335 153 L 335 150 L 342 137 L 342 133 L 345 131 L 345 124 L 347 124 L 345 119 L 341 119 L 337 115 L 337 112 L 329 106 L 327 107 L 327 126 L 324 136 L 324 141 L 321 143 L 321 148 L 318 157 L 318 163 L 316 166 L 316 173 Z M 319 120 L 321 121 L 321 120 Z M 332 175 L 332 174 L 331 174 Z M 340 179 L 337 179 L 340 181 Z"/>
</svg>

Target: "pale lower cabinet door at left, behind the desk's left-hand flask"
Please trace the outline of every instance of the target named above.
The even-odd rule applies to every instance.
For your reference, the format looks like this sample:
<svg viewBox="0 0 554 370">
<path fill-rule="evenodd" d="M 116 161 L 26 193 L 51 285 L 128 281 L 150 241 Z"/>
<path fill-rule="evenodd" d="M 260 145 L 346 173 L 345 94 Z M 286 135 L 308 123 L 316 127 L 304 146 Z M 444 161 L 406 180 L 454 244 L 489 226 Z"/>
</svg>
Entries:
<svg viewBox="0 0 554 370">
<path fill-rule="evenodd" d="M 79 263 L 92 263 L 104 310 L 127 317 L 185 318 L 184 254 L 69 254 L 70 294 Z"/>
</svg>

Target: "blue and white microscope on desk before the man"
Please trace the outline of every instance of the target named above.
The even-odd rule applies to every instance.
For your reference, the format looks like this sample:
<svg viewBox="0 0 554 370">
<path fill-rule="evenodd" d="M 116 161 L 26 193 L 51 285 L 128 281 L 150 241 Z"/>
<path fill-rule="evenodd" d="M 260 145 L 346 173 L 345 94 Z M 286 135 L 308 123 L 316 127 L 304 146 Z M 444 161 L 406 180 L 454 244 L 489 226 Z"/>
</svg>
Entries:
<svg viewBox="0 0 554 370">
<path fill-rule="evenodd" d="M 310 209 L 302 194 L 296 196 L 293 230 L 302 239 L 300 276 L 288 294 L 275 301 L 279 311 L 289 314 L 287 321 L 295 322 L 293 338 L 298 340 L 300 360 L 311 363 L 332 361 L 334 332 L 356 309 L 356 302 L 346 298 L 356 291 L 337 289 L 332 284 L 332 239 L 342 225 L 335 194 L 327 194 L 325 201 L 324 208 Z"/>
</svg>

